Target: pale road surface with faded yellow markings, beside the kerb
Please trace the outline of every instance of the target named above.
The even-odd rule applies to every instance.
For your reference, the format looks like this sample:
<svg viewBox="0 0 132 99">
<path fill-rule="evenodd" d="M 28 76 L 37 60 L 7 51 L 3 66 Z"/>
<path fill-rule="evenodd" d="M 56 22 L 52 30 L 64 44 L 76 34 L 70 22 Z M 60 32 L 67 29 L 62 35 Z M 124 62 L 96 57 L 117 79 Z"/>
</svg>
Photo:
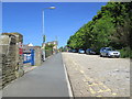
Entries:
<svg viewBox="0 0 132 99">
<path fill-rule="evenodd" d="M 130 59 L 63 53 L 75 97 L 130 97 Z"/>
</svg>

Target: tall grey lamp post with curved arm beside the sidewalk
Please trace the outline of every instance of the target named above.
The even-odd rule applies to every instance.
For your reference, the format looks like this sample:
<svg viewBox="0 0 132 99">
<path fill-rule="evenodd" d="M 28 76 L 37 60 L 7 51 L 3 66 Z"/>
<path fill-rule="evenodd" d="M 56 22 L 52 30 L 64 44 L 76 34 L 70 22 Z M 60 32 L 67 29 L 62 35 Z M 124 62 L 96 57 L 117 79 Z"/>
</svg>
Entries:
<svg viewBox="0 0 132 99">
<path fill-rule="evenodd" d="M 44 10 L 46 10 L 46 9 L 55 9 L 55 7 L 50 7 L 50 8 L 45 8 L 45 9 L 43 9 L 43 11 L 42 11 L 42 20 L 43 20 L 43 24 L 42 24 L 42 28 L 43 28 L 43 44 L 42 44 L 42 50 L 44 51 L 43 52 L 43 61 L 45 61 L 45 32 L 44 32 Z"/>
</svg>

